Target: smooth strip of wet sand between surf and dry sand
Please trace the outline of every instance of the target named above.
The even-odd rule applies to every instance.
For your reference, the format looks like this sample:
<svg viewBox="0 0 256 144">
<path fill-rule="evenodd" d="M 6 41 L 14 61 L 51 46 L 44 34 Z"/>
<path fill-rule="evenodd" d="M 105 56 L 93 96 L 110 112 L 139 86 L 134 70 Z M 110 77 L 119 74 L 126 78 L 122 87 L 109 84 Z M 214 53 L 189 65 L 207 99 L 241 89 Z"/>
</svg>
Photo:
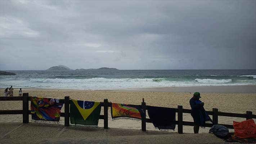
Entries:
<svg viewBox="0 0 256 144">
<path fill-rule="evenodd" d="M 4 90 L 4 88 L 0 88 Z M 108 90 L 78 90 L 78 89 L 45 89 L 28 87 L 23 90 L 42 90 L 42 91 L 116 91 L 116 92 L 167 92 L 167 93 L 256 93 L 256 85 L 237 85 L 237 86 L 173 86 L 173 87 L 138 87 L 125 89 Z M 14 90 L 19 90 L 15 88 Z"/>
</svg>

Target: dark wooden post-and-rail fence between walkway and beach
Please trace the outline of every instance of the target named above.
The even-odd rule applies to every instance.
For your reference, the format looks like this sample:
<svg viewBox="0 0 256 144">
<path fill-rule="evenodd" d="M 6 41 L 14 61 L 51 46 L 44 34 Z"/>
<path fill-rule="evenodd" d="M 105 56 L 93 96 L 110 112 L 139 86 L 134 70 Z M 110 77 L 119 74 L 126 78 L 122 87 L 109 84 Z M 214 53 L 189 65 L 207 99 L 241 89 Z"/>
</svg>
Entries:
<svg viewBox="0 0 256 144">
<path fill-rule="evenodd" d="M 0 110 L 0 114 L 22 114 L 23 123 L 28 123 L 28 115 L 31 114 L 28 110 L 28 102 L 30 101 L 31 96 L 28 96 L 28 93 L 23 93 L 23 96 L 12 96 L 12 97 L 0 97 L 0 101 L 22 101 L 22 110 Z M 69 96 L 65 96 L 64 99 L 60 99 L 60 102 L 64 102 L 64 113 L 60 113 L 60 117 L 64 117 L 65 126 L 69 126 Z M 100 115 L 100 119 L 104 120 L 104 129 L 108 129 L 108 107 L 111 107 L 111 103 L 108 102 L 108 99 L 104 99 L 104 102 L 100 102 L 100 106 L 104 107 L 104 114 Z M 142 100 L 141 107 L 145 112 L 147 110 L 147 105 Z M 190 113 L 190 109 L 183 109 L 182 105 L 178 105 L 176 108 L 178 113 L 178 121 L 175 121 L 175 124 L 178 125 L 178 133 L 183 134 L 183 126 L 194 126 L 194 122 L 183 121 L 183 113 Z M 251 118 L 256 118 L 255 114 L 252 114 L 251 111 L 246 111 L 246 114 L 239 113 L 227 113 L 227 112 L 218 112 L 217 108 L 212 108 L 212 111 L 207 111 L 209 115 L 212 115 L 213 123 L 206 123 L 206 127 L 212 127 L 212 125 L 219 124 L 218 116 L 226 117 L 241 117 L 246 118 L 246 120 Z M 152 123 L 149 118 L 146 118 L 146 114 L 142 115 L 142 131 L 146 131 L 146 123 Z M 234 129 L 233 125 L 220 124 L 229 129 Z"/>
</svg>

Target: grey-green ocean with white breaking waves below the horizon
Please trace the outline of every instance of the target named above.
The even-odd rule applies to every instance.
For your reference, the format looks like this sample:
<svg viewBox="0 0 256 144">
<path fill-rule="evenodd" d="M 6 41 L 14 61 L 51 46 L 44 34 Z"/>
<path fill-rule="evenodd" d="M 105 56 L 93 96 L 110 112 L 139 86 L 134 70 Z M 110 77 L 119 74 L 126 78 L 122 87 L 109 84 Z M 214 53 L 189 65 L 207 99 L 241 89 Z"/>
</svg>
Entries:
<svg viewBox="0 0 256 144">
<path fill-rule="evenodd" d="M 256 85 L 256 69 L 8 71 L 0 87 L 114 90 L 170 86 Z"/>
</svg>

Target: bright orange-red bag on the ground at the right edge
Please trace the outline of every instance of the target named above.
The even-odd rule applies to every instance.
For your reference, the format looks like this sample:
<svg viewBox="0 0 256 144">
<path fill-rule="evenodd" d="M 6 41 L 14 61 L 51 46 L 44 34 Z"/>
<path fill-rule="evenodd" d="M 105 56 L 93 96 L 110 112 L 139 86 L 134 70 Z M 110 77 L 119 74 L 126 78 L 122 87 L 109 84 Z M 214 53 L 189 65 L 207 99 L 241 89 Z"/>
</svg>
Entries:
<svg viewBox="0 0 256 144">
<path fill-rule="evenodd" d="M 238 138 L 256 138 L 256 124 L 253 119 L 242 122 L 233 121 L 233 127 Z"/>
</svg>

